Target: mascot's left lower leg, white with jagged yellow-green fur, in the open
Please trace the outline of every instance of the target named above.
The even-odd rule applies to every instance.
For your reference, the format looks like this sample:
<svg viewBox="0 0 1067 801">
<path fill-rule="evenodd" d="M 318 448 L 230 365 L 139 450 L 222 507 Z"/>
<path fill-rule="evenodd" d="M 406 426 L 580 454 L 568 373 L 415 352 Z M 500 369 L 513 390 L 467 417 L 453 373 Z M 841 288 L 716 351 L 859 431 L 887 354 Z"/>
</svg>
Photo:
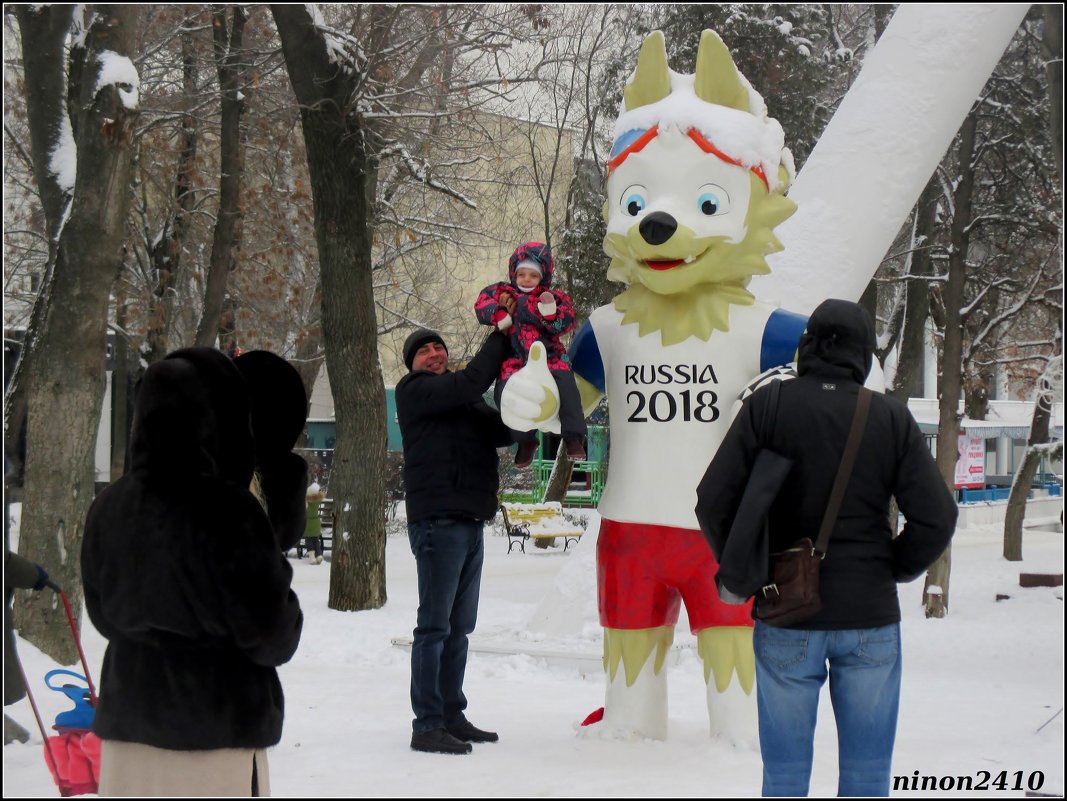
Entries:
<svg viewBox="0 0 1067 801">
<path fill-rule="evenodd" d="M 667 739 L 667 653 L 674 627 L 604 629 L 605 736 Z"/>
</svg>

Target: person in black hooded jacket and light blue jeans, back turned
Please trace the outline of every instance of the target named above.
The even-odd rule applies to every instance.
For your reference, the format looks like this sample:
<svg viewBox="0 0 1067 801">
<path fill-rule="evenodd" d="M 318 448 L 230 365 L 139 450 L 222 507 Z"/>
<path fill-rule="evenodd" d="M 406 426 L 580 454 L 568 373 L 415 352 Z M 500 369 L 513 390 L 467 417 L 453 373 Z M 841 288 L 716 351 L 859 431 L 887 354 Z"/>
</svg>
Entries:
<svg viewBox="0 0 1067 801">
<path fill-rule="evenodd" d="M 798 378 L 781 386 L 771 410 L 769 442 L 759 421 L 770 393 L 761 388 L 742 407 L 701 483 L 707 492 L 701 522 L 713 549 L 723 550 L 762 446 L 793 460 L 769 511 L 770 552 L 802 536 L 816 539 L 874 347 L 874 326 L 861 306 L 829 300 L 815 309 L 800 339 Z M 889 525 L 894 496 L 906 519 L 895 538 Z M 827 666 L 838 723 L 838 795 L 889 795 L 901 688 L 896 584 L 917 578 L 941 555 L 956 516 L 907 406 L 876 394 L 822 563 L 822 610 L 784 628 L 755 622 L 765 796 L 808 792 Z"/>
</svg>

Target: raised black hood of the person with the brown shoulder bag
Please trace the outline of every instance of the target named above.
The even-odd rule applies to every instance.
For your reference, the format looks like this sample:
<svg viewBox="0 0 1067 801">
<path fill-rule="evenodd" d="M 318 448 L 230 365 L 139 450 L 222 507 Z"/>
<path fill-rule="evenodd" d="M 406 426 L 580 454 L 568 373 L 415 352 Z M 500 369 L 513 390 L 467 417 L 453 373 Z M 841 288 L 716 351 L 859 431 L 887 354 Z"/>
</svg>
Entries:
<svg viewBox="0 0 1067 801">
<path fill-rule="evenodd" d="M 871 316 L 858 303 L 823 301 L 808 319 L 797 351 L 797 374 L 866 381 L 874 358 Z"/>
</svg>

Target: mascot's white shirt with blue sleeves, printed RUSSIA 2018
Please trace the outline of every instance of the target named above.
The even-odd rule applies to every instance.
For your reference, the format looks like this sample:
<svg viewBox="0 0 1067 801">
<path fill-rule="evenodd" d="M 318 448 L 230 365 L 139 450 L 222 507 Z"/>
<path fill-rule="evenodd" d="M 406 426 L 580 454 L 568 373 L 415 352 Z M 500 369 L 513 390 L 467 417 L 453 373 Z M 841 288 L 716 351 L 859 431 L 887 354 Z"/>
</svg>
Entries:
<svg viewBox="0 0 1067 801">
<path fill-rule="evenodd" d="M 732 305 L 730 331 L 671 346 L 658 331 L 638 336 L 638 325 L 623 325 L 611 305 L 593 311 L 586 326 L 572 346 L 574 369 L 607 396 L 610 415 L 601 514 L 699 528 L 697 484 L 730 428 L 734 401 L 775 366 L 768 362 L 792 359 L 803 318 L 760 303 Z M 768 334 L 781 341 L 768 348 Z"/>
</svg>

